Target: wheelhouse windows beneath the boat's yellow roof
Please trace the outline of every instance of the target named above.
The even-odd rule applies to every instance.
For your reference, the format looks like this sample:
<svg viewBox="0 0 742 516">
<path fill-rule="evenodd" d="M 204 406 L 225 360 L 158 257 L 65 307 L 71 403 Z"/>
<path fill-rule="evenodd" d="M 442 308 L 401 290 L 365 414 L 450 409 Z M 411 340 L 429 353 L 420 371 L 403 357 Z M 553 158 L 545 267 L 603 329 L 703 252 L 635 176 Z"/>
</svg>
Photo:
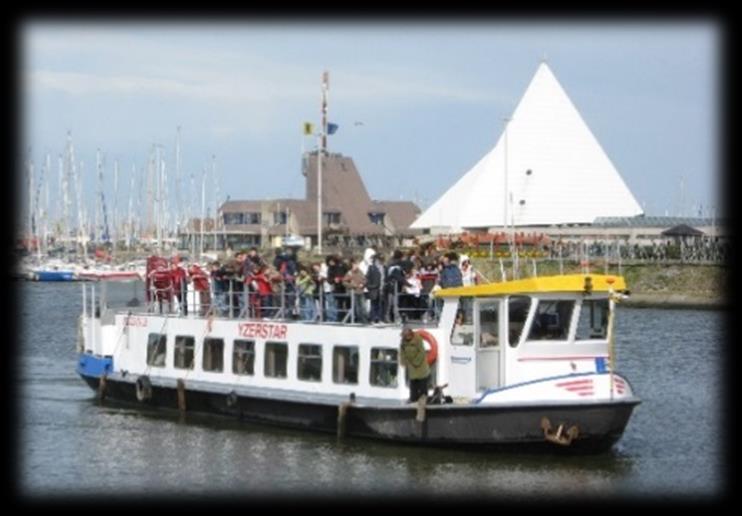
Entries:
<svg viewBox="0 0 742 516">
<path fill-rule="evenodd" d="M 508 298 L 508 344 L 518 345 L 523 333 L 532 298 L 511 296 Z M 538 300 L 528 337 L 526 340 L 565 341 L 569 337 L 572 313 L 577 301 L 562 299 Z M 604 339 L 608 328 L 608 300 L 585 299 L 577 321 L 576 340 Z M 480 347 L 498 345 L 499 338 L 499 300 L 485 300 L 479 303 Z M 462 297 L 451 334 L 451 343 L 470 346 L 474 343 L 474 300 Z"/>
</svg>

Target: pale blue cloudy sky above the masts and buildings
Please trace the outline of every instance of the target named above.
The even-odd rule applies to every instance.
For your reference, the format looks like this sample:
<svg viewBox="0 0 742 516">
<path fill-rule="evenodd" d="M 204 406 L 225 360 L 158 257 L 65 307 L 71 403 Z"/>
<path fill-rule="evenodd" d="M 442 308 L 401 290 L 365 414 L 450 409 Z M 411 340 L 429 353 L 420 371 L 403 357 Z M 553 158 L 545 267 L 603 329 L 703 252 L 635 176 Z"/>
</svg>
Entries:
<svg viewBox="0 0 742 516">
<path fill-rule="evenodd" d="M 301 128 L 319 122 L 328 70 L 339 125 L 330 150 L 354 159 L 372 198 L 425 208 L 495 145 L 545 57 L 647 214 L 718 214 L 719 30 L 704 21 L 29 21 L 23 159 L 38 174 L 51 154 L 54 198 L 70 131 L 86 198 L 100 148 L 109 205 L 119 163 L 123 210 L 132 168 L 141 182 L 153 144 L 174 180 L 180 126 L 181 209 L 200 206 L 212 156 L 222 200 L 303 197 L 301 149 L 316 141 Z"/>
</svg>

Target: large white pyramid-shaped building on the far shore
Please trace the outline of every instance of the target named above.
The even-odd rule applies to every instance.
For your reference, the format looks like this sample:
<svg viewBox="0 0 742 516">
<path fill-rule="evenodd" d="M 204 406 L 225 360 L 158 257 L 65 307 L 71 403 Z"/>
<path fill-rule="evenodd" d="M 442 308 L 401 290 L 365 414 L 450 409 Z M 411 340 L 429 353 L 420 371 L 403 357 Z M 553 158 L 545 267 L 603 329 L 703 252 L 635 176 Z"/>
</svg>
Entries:
<svg viewBox="0 0 742 516">
<path fill-rule="evenodd" d="M 596 217 L 641 213 L 580 113 L 541 63 L 495 148 L 411 227 L 458 232 L 502 227 L 505 219 L 514 226 L 590 224 Z"/>
</svg>

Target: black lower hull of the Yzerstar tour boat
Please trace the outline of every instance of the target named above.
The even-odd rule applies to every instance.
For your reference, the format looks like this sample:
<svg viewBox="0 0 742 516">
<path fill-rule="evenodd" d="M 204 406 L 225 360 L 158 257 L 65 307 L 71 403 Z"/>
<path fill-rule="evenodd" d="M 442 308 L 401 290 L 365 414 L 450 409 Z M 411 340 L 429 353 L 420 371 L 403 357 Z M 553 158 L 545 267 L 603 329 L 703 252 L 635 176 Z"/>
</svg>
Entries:
<svg viewBox="0 0 742 516">
<path fill-rule="evenodd" d="M 87 384 L 105 399 L 142 407 L 178 410 L 175 386 L 152 385 L 151 396 L 138 401 L 136 377 L 106 378 L 80 373 Z M 636 398 L 613 402 L 542 403 L 521 405 L 443 404 L 427 405 L 332 405 L 311 400 L 286 400 L 207 392 L 186 386 L 186 412 L 216 414 L 242 421 L 282 427 L 331 432 L 347 436 L 436 446 L 476 445 L 495 448 L 549 448 L 555 451 L 601 452 L 622 436 Z M 344 414 L 340 417 L 341 414 Z M 422 419 L 422 420 L 420 420 Z M 551 433 L 562 425 L 576 427 L 579 434 L 568 444 L 545 437 L 543 422 Z M 338 432 L 341 425 L 342 432 Z"/>
</svg>

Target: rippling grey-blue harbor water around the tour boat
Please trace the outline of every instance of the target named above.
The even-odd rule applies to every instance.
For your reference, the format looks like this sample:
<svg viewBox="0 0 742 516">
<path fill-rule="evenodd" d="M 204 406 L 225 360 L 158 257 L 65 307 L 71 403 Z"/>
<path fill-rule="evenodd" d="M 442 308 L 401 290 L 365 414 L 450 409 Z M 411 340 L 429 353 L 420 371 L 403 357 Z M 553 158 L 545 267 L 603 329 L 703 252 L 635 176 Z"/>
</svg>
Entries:
<svg viewBox="0 0 742 516">
<path fill-rule="evenodd" d="M 19 494 L 713 499 L 725 489 L 720 311 L 619 307 L 616 369 L 642 399 L 599 455 L 438 449 L 100 404 L 75 372 L 81 287 L 16 283 Z M 132 285 L 119 287 L 120 300 Z"/>
</svg>

